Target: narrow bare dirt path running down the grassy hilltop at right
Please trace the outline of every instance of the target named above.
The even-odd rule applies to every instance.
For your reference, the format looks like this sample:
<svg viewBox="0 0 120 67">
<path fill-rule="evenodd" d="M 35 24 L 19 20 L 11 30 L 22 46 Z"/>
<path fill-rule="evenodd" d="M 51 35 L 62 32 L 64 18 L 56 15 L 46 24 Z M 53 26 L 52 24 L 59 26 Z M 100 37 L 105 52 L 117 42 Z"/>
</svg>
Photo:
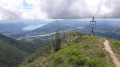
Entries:
<svg viewBox="0 0 120 67">
<path fill-rule="evenodd" d="M 111 47 L 109 45 L 109 41 L 105 40 L 104 45 L 105 45 L 105 49 L 110 53 L 111 58 L 112 58 L 113 62 L 115 63 L 116 67 L 120 67 L 119 59 L 115 56 L 115 54 L 111 50 Z"/>
</svg>

